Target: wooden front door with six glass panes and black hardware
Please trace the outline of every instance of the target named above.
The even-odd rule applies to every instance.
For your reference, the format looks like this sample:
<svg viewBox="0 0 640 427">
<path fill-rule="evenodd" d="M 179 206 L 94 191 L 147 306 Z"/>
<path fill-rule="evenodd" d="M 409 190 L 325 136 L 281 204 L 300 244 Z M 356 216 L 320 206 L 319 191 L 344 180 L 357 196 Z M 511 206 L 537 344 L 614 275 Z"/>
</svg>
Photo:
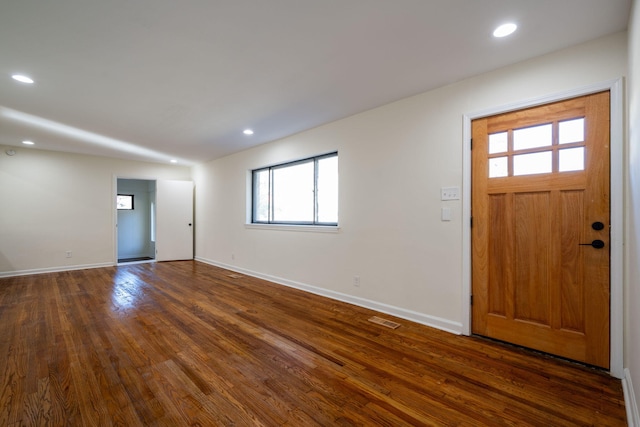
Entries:
<svg viewBox="0 0 640 427">
<path fill-rule="evenodd" d="M 472 331 L 609 367 L 609 92 L 472 123 Z"/>
</svg>

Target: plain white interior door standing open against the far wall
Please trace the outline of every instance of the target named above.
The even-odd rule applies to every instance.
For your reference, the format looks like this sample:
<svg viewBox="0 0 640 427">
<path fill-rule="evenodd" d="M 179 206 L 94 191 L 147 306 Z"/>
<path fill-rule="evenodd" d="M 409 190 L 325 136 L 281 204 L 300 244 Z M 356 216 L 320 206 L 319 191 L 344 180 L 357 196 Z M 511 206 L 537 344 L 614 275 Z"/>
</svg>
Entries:
<svg viewBox="0 0 640 427">
<path fill-rule="evenodd" d="M 193 259 L 193 182 L 156 185 L 156 260 Z"/>
</svg>

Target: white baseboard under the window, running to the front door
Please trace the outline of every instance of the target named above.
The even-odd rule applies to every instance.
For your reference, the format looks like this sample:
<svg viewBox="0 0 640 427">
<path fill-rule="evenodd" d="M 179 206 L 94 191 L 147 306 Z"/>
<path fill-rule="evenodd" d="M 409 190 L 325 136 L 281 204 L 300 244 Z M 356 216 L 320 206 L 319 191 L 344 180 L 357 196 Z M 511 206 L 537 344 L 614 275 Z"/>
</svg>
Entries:
<svg viewBox="0 0 640 427">
<path fill-rule="evenodd" d="M 420 323 L 422 325 L 430 326 L 430 327 L 440 329 L 446 332 L 450 332 L 453 334 L 460 335 L 462 333 L 462 323 L 452 322 L 451 320 L 442 319 L 440 317 L 429 316 L 427 314 L 418 313 L 416 311 L 407 310 L 407 309 L 395 307 L 389 304 L 368 300 L 366 298 L 360 298 L 353 295 L 343 294 L 341 292 L 336 292 L 329 289 L 319 288 L 317 286 L 307 285 L 305 283 L 295 282 L 293 280 L 283 279 L 281 277 L 258 273 L 255 271 L 247 270 L 247 269 L 236 267 L 233 265 L 227 265 L 221 262 L 217 262 L 217 261 L 213 261 L 213 260 L 209 260 L 201 257 L 196 257 L 195 260 L 204 262 L 205 264 L 210 264 L 216 267 L 246 274 L 247 276 L 253 276 L 259 279 L 268 280 L 270 282 L 274 282 L 279 285 L 300 289 L 306 292 L 310 292 L 312 294 L 335 299 L 338 301 L 346 302 L 346 303 L 357 305 L 364 308 L 369 308 L 371 310 L 379 311 L 381 313 L 390 314 L 392 316 L 396 316 L 401 319 L 410 320 L 412 322 Z"/>
</svg>

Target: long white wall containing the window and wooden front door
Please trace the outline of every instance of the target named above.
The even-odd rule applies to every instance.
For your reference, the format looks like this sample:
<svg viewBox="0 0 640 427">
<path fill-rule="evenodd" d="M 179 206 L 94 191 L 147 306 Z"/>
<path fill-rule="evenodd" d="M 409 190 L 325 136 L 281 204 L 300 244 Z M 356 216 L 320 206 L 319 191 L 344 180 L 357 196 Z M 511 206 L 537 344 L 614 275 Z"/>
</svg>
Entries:
<svg viewBox="0 0 640 427">
<path fill-rule="evenodd" d="M 612 35 L 195 167 L 197 258 L 460 331 L 467 224 L 440 188 L 462 186 L 463 114 L 619 78 L 626 49 Z M 339 233 L 244 226 L 249 170 L 334 150 Z"/>
</svg>

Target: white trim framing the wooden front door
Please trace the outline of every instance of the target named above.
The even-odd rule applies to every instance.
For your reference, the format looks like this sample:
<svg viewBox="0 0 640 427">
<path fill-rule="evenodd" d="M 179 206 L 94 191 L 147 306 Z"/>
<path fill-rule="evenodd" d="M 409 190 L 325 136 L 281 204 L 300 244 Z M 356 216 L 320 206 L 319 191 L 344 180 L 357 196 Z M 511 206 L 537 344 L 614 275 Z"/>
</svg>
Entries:
<svg viewBox="0 0 640 427">
<path fill-rule="evenodd" d="M 462 333 L 471 335 L 471 122 L 482 117 L 522 110 L 570 98 L 609 91 L 610 106 L 610 374 L 624 377 L 624 80 L 622 77 L 537 97 L 521 102 L 463 114 L 462 130 Z"/>
</svg>

